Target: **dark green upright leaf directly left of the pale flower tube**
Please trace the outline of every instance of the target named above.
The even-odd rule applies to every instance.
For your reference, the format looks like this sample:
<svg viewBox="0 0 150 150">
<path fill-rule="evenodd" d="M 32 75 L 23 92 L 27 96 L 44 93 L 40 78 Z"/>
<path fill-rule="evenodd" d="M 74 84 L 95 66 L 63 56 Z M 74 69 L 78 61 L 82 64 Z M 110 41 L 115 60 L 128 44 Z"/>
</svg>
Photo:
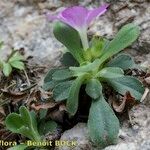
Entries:
<svg viewBox="0 0 150 150">
<path fill-rule="evenodd" d="M 82 63 L 84 60 L 78 32 L 62 22 L 56 22 L 53 32 L 56 39 L 67 47 L 69 52 L 79 63 Z"/>
</svg>

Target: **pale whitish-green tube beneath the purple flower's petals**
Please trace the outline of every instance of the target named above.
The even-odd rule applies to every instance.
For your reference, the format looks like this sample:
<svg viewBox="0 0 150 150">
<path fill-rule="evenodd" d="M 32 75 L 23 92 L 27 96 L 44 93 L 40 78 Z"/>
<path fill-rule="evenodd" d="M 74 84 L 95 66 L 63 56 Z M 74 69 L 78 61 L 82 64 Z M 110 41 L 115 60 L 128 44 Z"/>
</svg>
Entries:
<svg viewBox="0 0 150 150">
<path fill-rule="evenodd" d="M 89 43 L 88 43 L 88 37 L 87 37 L 87 30 L 83 29 L 79 32 L 82 46 L 84 50 L 87 50 L 89 48 Z"/>
</svg>

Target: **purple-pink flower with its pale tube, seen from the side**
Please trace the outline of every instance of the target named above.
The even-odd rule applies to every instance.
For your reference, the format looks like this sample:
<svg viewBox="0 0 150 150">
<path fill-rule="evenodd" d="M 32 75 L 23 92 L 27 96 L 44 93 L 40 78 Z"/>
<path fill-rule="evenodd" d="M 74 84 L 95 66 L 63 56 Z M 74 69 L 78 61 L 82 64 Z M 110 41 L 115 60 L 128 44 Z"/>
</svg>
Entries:
<svg viewBox="0 0 150 150">
<path fill-rule="evenodd" d="M 93 19 L 95 19 L 97 16 L 102 15 L 106 12 L 108 7 L 108 4 L 105 4 L 99 8 L 95 8 L 92 10 L 88 10 L 82 6 L 74 6 L 65 9 L 61 13 L 59 13 L 57 16 L 51 16 L 50 14 L 47 14 L 48 20 L 60 20 L 74 29 L 76 29 L 81 37 L 81 41 L 83 44 L 83 47 L 87 49 L 88 46 L 88 40 L 87 40 L 87 28 L 88 25 L 91 23 Z"/>
</svg>

